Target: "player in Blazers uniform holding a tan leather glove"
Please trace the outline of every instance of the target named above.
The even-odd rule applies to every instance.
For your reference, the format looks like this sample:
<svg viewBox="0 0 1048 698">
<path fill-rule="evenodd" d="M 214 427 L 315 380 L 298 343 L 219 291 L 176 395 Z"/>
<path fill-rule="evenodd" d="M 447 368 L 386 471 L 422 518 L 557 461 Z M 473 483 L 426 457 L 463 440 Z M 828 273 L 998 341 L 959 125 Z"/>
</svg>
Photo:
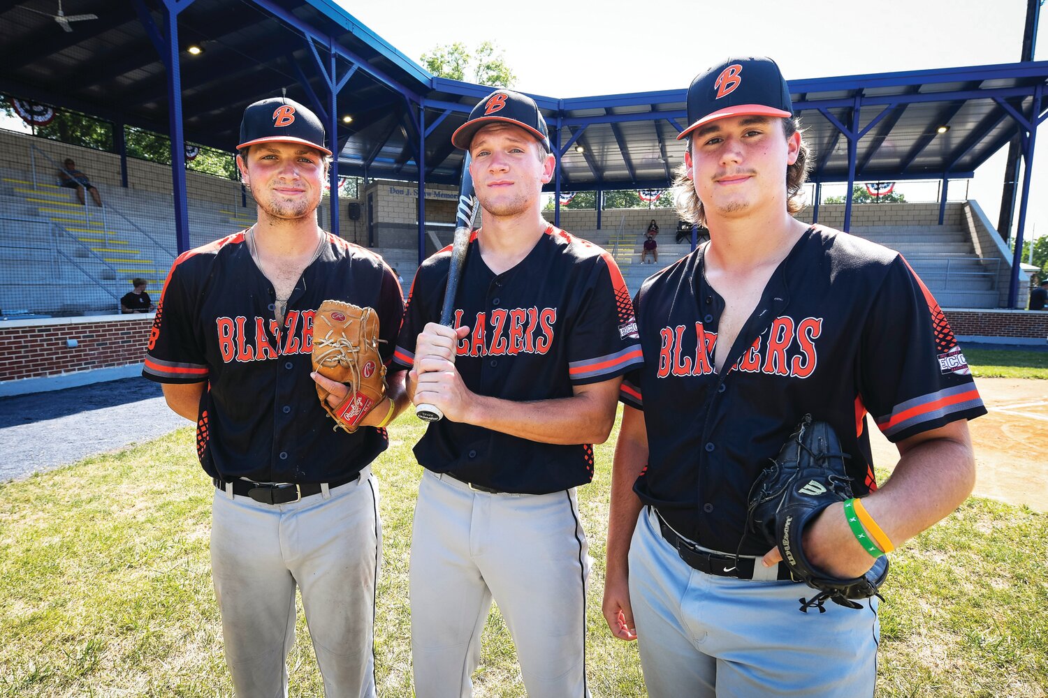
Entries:
<svg viewBox="0 0 1048 698">
<path fill-rule="evenodd" d="M 314 381 L 332 406 L 348 388 L 310 375 L 312 322 L 327 299 L 374 308 L 388 361 L 403 297 L 380 257 L 316 224 L 331 153 L 312 112 L 257 102 L 237 149 L 258 223 L 175 261 L 143 375 L 196 422 L 215 483 L 212 573 L 237 696 L 286 695 L 296 586 L 325 694 L 374 696 L 381 524 L 369 464 L 407 405 L 405 374 L 389 376 L 362 428 L 333 429 Z"/>
</svg>

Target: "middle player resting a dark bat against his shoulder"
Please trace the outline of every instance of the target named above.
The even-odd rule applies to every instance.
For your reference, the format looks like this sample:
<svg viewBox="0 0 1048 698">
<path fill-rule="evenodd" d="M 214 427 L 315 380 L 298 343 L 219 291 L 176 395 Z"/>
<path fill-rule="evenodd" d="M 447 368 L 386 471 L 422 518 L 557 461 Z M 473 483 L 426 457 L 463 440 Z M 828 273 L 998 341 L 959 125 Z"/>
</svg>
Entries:
<svg viewBox="0 0 1048 698">
<path fill-rule="evenodd" d="M 452 136 L 483 209 L 455 297 L 435 322 L 451 248 L 419 268 L 394 365 L 415 404 L 438 407 L 415 455 L 425 469 L 411 546 L 415 691 L 473 694 L 492 599 L 531 696 L 588 696 L 590 558 L 575 488 L 593 476 L 623 374 L 640 351 L 614 260 L 542 219 L 553 175 L 536 103 L 498 90 Z"/>
</svg>

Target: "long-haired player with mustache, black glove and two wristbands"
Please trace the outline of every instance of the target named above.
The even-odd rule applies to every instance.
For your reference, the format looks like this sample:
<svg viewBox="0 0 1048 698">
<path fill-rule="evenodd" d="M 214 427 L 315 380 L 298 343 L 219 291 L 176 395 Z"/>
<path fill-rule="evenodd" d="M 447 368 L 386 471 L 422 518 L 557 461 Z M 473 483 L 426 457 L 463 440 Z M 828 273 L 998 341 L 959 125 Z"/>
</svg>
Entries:
<svg viewBox="0 0 1048 698">
<path fill-rule="evenodd" d="M 970 492 L 966 420 L 985 409 L 897 252 L 792 218 L 807 149 L 771 60 L 700 73 L 687 120 L 677 204 L 711 240 L 634 299 L 645 362 L 623 384 L 604 613 L 617 637 L 639 637 L 654 698 L 872 696 L 876 599 L 799 612 L 807 587 L 745 534 L 750 487 L 810 413 L 839 435 L 855 496 L 898 544 Z M 900 454 L 880 489 L 868 412 Z M 837 502 L 804 549 L 860 577 L 874 558 L 857 535 Z"/>
</svg>

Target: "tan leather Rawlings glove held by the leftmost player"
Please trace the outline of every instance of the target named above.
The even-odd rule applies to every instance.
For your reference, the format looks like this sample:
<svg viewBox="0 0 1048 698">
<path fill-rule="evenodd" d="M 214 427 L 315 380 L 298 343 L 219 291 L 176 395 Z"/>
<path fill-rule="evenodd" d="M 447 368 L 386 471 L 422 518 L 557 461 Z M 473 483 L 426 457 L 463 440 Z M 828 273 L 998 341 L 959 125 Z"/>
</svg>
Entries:
<svg viewBox="0 0 1048 698">
<path fill-rule="evenodd" d="M 378 315 L 341 300 L 325 300 L 313 316 L 313 370 L 349 386 L 337 407 L 316 384 L 325 411 L 349 433 L 386 397 L 386 364 L 378 355 Z M 337 428 L 337 427 L 335 427 Z"/>
</svg>

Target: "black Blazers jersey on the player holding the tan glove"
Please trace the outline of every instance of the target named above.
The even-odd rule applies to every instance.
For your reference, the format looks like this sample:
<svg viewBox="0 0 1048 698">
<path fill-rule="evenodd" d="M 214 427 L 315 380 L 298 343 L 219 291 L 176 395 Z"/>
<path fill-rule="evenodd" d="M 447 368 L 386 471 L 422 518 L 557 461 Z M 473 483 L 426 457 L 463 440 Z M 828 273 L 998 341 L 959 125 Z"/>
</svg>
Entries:
<svg viewBox="0 0 1048 698">
<path fill-rule="evenodd" d="M 197 454 L 212 477 L 329 482 L 352 477 L 386 450 L 385 429 L 334 429 L 316 397 L 312 323 L 324 300 L 374 308 L 389 363 L 403 295 L 381 257 L 327 233 L 302 273 L 284 322 L 276 293 L 241 231 L 181 254 L 156 309 L 143 376 L 206 381 Z"/>
</svg>

